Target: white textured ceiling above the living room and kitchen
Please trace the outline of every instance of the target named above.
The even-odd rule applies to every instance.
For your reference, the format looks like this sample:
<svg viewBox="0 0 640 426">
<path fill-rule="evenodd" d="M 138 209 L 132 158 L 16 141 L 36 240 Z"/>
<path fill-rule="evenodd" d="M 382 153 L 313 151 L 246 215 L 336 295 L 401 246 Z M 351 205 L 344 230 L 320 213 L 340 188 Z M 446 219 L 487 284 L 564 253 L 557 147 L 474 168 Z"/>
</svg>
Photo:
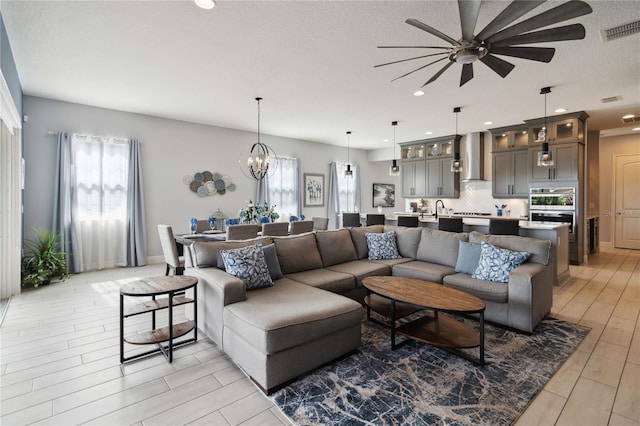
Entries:
<svg viewBox="0 0 640 426">
<path fill-rule="evenodd" d="M 516 67 L 504 79 L 476 63 L 461 88 L 454 64 L 421 97 L 412 94 L 440 66 L 391 82 L 427 60 L 373 66 L 425 51 L 376 46 L 443 44 L 407 18 L 459 38 L 455 2 L 219 0 L 202 10 L 188 0 L 1 0 L 0 7 L 26 95 L 249 131 L 261 96 L 263 133 L 345 145 L 351 130 L 352 147 L 376 149 L 390 148 L 383 140 L 393 138 L 393 120 L 397 142 L 454 133 L 455 106 L 459 133 L 541 117 L 543 86 L 552 87 L 549 115 L 585 110 L 590 130 L 630 131 L 620 118 L 640 115 L 640 35 L 604 43 L 600 31 L 640 19 L 640 2 L 588 3 L 592 14 L 567 21 L 585 26 L 584 40 L 536 45 L 556 48 L 551 63 L 506 58 Z M 476 33 L 507 4 L 484 1 Z M 600 101 L 611 96 L 621 100 Z"/>
</svg>

